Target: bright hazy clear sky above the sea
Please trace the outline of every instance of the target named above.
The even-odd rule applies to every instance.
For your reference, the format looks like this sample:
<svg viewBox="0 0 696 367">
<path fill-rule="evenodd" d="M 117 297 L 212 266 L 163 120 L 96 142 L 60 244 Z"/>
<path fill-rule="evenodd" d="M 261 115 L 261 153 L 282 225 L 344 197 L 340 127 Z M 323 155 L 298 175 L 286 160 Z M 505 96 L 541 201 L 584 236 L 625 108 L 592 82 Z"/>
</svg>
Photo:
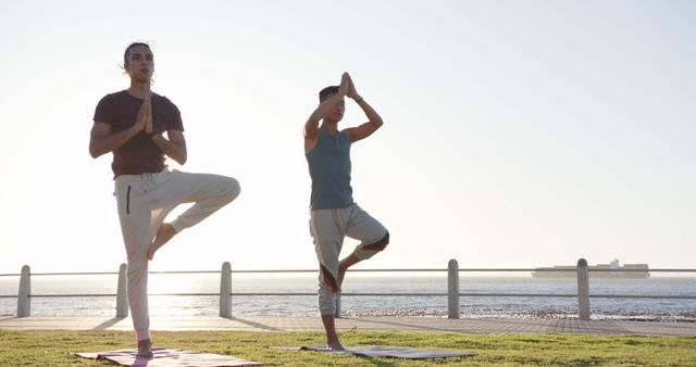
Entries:
<svg viewBox="0 0 696 367">
<path fill-rule="evenodd" d="M 0 274 L 125 263 L 87 148 L 133 41 L 182 111 L 170 167 L 241 184 L 151 270 L 316 267 L 302 126 L 343 72 L 385 122 L 352 147 L 391 235 L 359 268 L 695 268 L 694 39 L 693 1 L 1 1 Z"/>
</svg>

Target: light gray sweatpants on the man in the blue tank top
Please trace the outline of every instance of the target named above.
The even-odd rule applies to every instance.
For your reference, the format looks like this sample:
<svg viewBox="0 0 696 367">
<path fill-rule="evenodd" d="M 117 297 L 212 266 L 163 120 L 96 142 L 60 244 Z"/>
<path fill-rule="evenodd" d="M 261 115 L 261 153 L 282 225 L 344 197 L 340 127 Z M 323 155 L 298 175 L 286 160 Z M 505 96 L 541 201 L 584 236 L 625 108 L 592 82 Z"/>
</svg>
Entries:
<svg viewBox="0 0 696 367">
<path fill-rule="evenodd" d="M 319 311 L 336 314 L 338 292 L 338 256 L 346 237 L 361 241 L 352 251 L 360 260 L 368 260 L 389 243 L 389 232 L 358 204 L 339 208 L 310 211 L 310 232 L 319 260 Z"/>
</svg>

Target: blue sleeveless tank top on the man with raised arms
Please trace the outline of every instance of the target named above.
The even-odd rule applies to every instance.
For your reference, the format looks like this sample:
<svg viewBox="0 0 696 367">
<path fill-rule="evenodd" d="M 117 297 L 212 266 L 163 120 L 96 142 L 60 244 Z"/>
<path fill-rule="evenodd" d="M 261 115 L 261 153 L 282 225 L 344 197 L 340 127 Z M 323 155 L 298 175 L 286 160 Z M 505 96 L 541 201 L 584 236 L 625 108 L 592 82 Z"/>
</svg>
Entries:
<svg viewBox="0 0 696 367">
<path fill-rule="evenodd" d="M 353 204 L 350 187 L 350 140 L 340 131 L 330 135 L 319 129 L 319 141 L 307 154 L 312 178 L 310 208 L 336 208 Z"/>
</svg>

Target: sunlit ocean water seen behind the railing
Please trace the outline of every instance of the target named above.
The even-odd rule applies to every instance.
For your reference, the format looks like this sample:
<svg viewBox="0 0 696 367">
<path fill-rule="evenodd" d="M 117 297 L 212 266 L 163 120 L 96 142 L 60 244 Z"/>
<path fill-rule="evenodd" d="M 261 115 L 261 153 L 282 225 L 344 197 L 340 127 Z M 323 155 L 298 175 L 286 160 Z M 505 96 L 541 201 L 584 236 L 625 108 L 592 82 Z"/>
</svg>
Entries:
<svg viewBox="0 0 696 367">
<path fill-rule="evenodd" d="M 220 277 L 150 275 L 150 314 L 214 316 Z M 531 276 L 461 276 L 461 293 L 575 294 L 575 279 Z M 315 275 L 233 275 L 233 315 L 315 316 Z M 0 277 L 0 295 L 16 295 L 18 277 Z M 351 296 L 349 293 L 447 293 L 445 275 L 394 276 L 351 274 L 343 287 L 346 316 L 401 315 L 447 317 L 447 296 Z M 34 276 L 32 294 L 115 294 L 116 276 Z M 215 293 L 156 295 L 153 293 Z M 235 295 L 234 293 L 311 293 L 311 295 Z M 696 295 L 694 277 L 591 279 L 589 294 Z M 696 300 L 591 299 L 593 319 L 696 321 Z M 461 317 L 576 318 L 577 298 L 461 296 Z M 0 298 L 0 315 L 16 315 L 16 298 Z M 32 315 L 115 315 L 115 296 L 34 298 Z"/>
</svg>

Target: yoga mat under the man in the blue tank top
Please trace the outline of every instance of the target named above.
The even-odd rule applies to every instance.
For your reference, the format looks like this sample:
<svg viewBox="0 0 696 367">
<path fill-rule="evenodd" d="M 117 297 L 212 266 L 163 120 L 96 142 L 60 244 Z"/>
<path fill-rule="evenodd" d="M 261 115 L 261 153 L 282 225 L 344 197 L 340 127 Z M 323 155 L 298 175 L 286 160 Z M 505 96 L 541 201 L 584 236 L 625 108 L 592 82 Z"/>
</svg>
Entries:
<svg viewBox="0 0 696 367">
<path fill-rule="evenodd" d="M 344 351 L 332 350 L 327 346 L 272 346 L 284 351 L 315 351 L 323 353 L 346 353 L 365 357 L 393 357 L 405 359 L 425 359 L 425 358 L 445 358 L 445 357 L 467 357 L 474 356 L 473 352 L 446 352 L 422 350 L 418 347 L 400 347 L 400 346 L 349 346 Z"/>
</svg>

